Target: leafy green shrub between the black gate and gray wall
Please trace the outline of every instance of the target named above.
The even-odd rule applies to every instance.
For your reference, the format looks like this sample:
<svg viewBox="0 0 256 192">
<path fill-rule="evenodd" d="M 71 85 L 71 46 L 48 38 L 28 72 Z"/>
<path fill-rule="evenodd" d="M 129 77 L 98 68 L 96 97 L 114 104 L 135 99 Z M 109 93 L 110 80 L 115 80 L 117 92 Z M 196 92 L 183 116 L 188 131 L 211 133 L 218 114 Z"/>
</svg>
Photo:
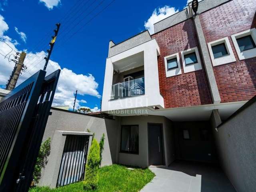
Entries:
<svg viewBox="0 0 256 192">
<path fill-rule="evenodd" d="M 36 165 L 33 172 L 34 184 L 38 184 L 39 180 L 41 179 L 42 168 L 45 168 L 47 164 L 47 158 L 50 155 L 50 150 L 51 150 L 50 143 L 51 143 L 51 138 L 48 138 L 40 146 L 38 157 L 36 159 Z"/>
</svg>

